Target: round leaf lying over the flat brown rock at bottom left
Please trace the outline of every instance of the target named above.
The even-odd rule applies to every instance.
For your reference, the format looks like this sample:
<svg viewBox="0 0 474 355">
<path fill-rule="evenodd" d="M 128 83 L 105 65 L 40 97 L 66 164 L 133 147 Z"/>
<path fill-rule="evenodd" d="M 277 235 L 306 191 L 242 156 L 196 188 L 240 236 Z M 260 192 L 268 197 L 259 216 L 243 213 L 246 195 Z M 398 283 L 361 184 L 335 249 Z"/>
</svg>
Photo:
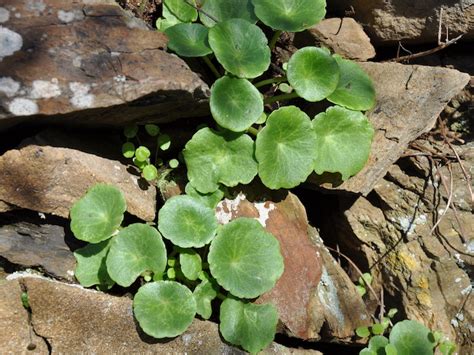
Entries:
<svg viewBox="0 0 474 355">
<path fill-rule="evenodd" d="M 174 281 L 148 283 L 133 299 L 133 311 L 140 327 L 155 338 L 182 334 L 196 314 L 196 301 L 186 287 Z"/>
</svg>

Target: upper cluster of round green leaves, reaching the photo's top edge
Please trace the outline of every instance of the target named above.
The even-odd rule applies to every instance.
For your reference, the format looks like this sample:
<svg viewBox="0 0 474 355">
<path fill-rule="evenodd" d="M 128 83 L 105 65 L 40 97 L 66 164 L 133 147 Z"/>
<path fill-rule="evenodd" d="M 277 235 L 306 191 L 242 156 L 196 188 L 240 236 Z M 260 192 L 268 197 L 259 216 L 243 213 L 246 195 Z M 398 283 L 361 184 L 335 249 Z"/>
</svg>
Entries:
<svg viewBox="0 0 474 355">
<path fill-rule="evenodd" d="M 275 42 L 268 43 L 258 21 L 274 29 L 276 39 L 281 31 L 313 26 L 325 8 L 324 0 L 164 0 L 157 27 L 169 37 L 168 48 L 182 57 L 203 57 L 218 77 L 210 109 L 219 130 L 203 128 L 184 150 L 196 190 L 246 184 L 257 174 L 270 189 L 292 188 L 312 172 L 339 173 L 346 180 L 362 169 L 374 131 L 361 111 L 374 106 L 375 91 L 357 64 L 325 48 L 305 47 L 282 68 L 285 76 L 252 82 L 268 77 Z M 259 91 L 272 83 L 285 94 L 265 97 Z M 265 112 L 271 103 L 294 97 L 335 106 L 313 120 L 295 106 Z M 249 132 L 257 132 L 255 141 Z"/>
</svg>

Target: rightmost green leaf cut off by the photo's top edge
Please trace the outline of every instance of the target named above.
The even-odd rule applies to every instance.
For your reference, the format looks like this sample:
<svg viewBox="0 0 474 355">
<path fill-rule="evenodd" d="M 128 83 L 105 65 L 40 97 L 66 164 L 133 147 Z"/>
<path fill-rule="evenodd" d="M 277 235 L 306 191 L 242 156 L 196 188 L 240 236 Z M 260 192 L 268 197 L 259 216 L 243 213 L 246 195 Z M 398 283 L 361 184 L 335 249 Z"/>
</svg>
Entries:
<svg viewBox="0 0 474 355">
<path fill-rule="evenodd" d="M 255 14 L 267 26 L 300 32 L 326 16 L 325 0 L 252 0 Z"/>
</svg>

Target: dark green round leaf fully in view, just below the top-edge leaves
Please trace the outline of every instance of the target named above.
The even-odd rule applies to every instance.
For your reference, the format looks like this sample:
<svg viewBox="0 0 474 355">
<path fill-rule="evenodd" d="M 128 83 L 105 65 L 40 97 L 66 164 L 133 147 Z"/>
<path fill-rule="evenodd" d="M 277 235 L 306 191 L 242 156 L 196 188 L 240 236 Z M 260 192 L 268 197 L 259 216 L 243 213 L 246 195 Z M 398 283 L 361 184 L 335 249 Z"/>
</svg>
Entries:
<svg viewBox="0 0 474 355">
<path fill-rule="evenodd" d="M 219 22 L 209 30 L 209 44 L 219 63 L 240 78 L 255 78 L 270 66 L 267 37 L 242 19 Z"/>
</svg>

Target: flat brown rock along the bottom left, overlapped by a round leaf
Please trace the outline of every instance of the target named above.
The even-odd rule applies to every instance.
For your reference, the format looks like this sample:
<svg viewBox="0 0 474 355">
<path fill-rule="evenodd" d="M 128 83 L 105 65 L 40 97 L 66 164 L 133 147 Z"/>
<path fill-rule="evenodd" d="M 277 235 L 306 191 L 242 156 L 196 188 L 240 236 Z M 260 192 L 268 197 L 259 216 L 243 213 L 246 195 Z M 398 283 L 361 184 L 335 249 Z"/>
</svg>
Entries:
<svg viewBox="0 0 474 355">
<path fill-rule="evenodd" d="M 222 341 L 215 323 L 195 319 L 188 330 L 166 341 L 144 334 L 133 318 L 132 301 L 80 286 L 28 275 L 19 278 L 28 293 L 35 334 L 45 339 L 53 353 L 187 353 L 243 354 Z M 9 281 L 9 283 L 18 281 Z M 18 300 L 19 297 L 18 297 Z M 3 298 L 2 298 L 3 302 Z M 0 303 L 1 304 L 1 303 Z M 21 303 L 20 303 L 21 305 Z M 2 315 L 10 315 L 10 308 Z M 27 339 L 27 337 L 25 337 Z M 25 338 L 13 337 L 12 346 Z M 320 354 L 272 344 L 264 354 Z"/>
</svg>

